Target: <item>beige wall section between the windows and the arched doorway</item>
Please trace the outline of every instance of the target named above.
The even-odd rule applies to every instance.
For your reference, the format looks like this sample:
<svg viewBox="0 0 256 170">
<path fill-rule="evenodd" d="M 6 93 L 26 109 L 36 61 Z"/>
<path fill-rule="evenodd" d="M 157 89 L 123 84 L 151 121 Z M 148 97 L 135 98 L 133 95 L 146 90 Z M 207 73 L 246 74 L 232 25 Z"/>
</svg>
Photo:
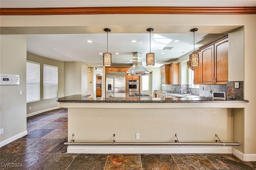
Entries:
<svg viewBox="0 0 256 170">
<path fill-rule="evenodd" d="M 87 64 L 64 62 L 64 96 L 87 94 Z"/>
</svg>

